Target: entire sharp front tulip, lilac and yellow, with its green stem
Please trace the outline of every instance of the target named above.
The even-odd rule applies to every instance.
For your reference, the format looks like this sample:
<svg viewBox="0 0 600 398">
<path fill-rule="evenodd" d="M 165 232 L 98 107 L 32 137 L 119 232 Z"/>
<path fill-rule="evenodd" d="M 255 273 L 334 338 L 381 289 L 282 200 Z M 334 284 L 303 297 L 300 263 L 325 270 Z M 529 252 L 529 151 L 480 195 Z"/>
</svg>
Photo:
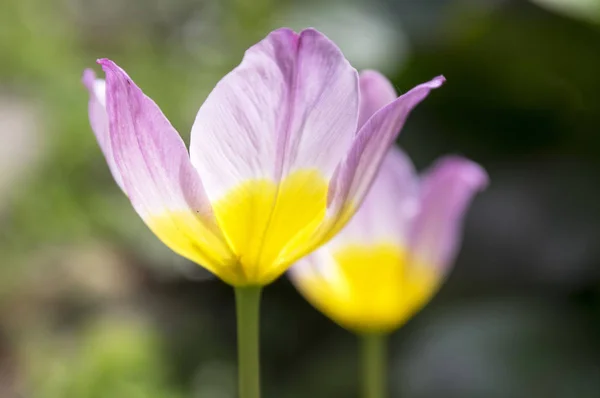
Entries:
<svg viewBox="0 0 600 398">
<path fill-rule="evenodd" d="M 125 71 L 98 63 L 106 81 L 86 70 L 83 82 L 114 179 L 160 240 L 236 288 L 240 393 L 257 397 L 260 287 L 347 223 L 410 111 L 444 78 L 372 102 L 371 74 L 324 35 L 279 29 L 217 83 L 188 155 Z"/>
</svg>

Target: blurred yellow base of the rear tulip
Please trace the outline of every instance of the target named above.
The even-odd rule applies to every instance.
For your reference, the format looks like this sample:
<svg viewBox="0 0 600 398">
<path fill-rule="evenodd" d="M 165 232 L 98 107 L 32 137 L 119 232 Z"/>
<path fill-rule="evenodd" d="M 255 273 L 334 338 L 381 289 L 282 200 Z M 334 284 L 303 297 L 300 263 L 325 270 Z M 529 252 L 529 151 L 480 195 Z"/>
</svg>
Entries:
<svg viewBox="0 0 600 398">
<path fill-rule="evenodd" d="M 332 273 L 302 276 L 306 298 L 338 324 L 359 333 L 389 332 L 433 295 L 439 282 L 426 266 L 409 266 L 393 244 L 347 246 L 333 255 Z"/>
</svg>

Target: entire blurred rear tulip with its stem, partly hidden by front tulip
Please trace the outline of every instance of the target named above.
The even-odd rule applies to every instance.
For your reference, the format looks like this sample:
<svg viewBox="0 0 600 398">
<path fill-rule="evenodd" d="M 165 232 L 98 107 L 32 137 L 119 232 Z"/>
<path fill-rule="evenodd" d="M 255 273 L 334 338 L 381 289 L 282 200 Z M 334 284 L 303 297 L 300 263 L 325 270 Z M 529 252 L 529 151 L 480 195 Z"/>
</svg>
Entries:
<svg viewBox="0 0 600 398">
<path fill-rule="evenodd" d="M 396 95 L 381 75 L 361 77 L 365 119 Z M 384 108 L 385 109 L 385 108 Z M 460 244 L 461 224 L 486 172 L 467 159 L 440 159 L 418 177 L 392 147 L 362 206 L 331 241 L 291 268 L 316 308 L 363 339 L 364 395 L 384 396 L 384 337 L 435 293 Z"/>
</svg>

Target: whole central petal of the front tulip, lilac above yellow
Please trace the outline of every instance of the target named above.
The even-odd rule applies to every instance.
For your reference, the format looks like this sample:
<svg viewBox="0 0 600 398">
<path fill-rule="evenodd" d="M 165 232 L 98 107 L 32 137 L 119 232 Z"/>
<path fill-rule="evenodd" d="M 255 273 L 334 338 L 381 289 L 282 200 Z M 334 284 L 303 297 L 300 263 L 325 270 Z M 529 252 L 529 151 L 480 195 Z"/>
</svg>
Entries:
<svg viewBox="0 0 600 398">
<path fill-rule="evenodd" d="M 290 264 L 285 247 L 306 246 L 357 119 L 358 74 L 312 29 L 269 34 L 202 105 L 192 163 L 249 281 L 269 282 Z"/>
</svg>

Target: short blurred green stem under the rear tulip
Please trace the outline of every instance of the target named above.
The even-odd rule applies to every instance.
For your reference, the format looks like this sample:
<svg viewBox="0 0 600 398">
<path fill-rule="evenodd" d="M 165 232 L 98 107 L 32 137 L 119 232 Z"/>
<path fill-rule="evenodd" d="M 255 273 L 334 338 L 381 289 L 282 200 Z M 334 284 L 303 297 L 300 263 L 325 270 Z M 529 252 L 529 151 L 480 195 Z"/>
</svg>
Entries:
<svg viewBox="0 0 600 398">
<path fill-rule="evenodd" d="M 364 334 L 361 339 L 362 398 L 385 398 L 387 385 L 387 336 Z"/>
</svg>

